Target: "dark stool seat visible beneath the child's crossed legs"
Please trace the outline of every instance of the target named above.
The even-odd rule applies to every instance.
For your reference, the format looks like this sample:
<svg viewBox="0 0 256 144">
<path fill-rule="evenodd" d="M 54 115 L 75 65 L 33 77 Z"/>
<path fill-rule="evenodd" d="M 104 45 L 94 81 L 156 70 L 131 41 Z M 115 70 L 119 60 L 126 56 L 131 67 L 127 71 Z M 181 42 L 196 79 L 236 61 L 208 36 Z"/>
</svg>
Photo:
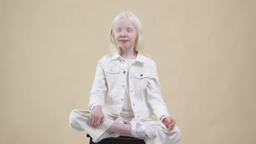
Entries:
<svg viewBox="0 0 256 144">
<path fill-rule="evenodd" d="M 86 134 L 86 137 L 90 137 L 89 134 Z M 89 144 L 145 144 L 144 140 L 135 138 L 135 137 L 125 137 L 125 136 L 119 136 L 119 137 L 109 137 L 105 138 L 98 143 L 94 143 L 92 141 L 92 137 L 90 137 L 90 143 Z"/>
</svg>

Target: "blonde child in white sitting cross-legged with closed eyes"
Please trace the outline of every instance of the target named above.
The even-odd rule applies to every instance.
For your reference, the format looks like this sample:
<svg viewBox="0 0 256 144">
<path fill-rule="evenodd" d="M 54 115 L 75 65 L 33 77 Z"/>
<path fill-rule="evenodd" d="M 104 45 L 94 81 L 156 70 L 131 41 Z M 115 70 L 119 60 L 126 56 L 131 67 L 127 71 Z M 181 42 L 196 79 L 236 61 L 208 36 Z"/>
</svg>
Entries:
<svg viewBox="0 0 256 144">
<path fill-rule="evenodd" d="M 89 109 L 73 110 L 69 125 L 87 131 L 92 141 L 130 136 L 146 144 L 175 144 L 175 126 L 161 96 L 155 62 L 143 52 L 141 23 L 131 12 L 115 17 L 110 40 L 112 53 L 98 61 Z M 152 115 L 157 118 L 151 118 Z"/>
</svg>

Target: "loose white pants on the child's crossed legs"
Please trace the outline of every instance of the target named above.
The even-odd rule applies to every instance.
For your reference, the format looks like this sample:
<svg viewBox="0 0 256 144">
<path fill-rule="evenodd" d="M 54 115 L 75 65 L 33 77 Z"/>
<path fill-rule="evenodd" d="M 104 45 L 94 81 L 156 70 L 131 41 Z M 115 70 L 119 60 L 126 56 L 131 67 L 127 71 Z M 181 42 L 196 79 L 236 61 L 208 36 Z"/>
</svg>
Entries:
<svg viewBox="0 0 256 144">
<path fill-rule="evenodd" d="M 94 127 L 89 120 L 91 111 L 76 109 L 70 113 L 69 125 L 76 131 L 86 131 L 91 137 L 92 141 L 97 140 L 117 119 L 122 117 L 125 123 L 134 118 L 133 111 L 121 111 L 120 115 L 108 113 L 104 114 L 105 121 L 102 124 Z M 177 126 L 174 126 L 172 131 L 169 131 L 166 126 L 158 121 L 156 118 L 144 118 L 142 122 L 147 123 L 154 129 L 157 138 L 146 138 L 146 144 L 177 144 L 181 140 L 181 131 Z"/>
</svg>

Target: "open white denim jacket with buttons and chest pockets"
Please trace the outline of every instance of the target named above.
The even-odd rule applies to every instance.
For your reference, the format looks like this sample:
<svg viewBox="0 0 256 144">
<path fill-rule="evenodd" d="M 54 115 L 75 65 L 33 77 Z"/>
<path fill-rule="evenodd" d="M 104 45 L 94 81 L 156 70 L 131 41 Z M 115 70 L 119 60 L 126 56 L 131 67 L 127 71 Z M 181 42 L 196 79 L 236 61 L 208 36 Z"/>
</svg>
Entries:
<svg viewBox="0 0 256 144">
<path fill-rule="evenodd" d="M 98 61 L 92 85 L 89 109 L 102 106 L 105 113 L 120 114 L 125 97 L 126 65 L 118 52 L 107 54 Z M 155 62 L 137 55 L 129 69 L 131 106 L 139 119 L 156 115 L 158 120 L 170 116 L 161 96 L 161 88 Z"/>
</svg>

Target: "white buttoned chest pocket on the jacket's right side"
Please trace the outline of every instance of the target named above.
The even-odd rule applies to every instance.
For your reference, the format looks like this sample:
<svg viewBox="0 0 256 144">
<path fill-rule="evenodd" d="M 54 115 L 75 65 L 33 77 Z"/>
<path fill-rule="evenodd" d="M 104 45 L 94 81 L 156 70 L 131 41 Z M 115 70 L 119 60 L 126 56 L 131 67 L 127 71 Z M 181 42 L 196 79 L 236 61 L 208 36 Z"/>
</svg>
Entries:
<svg viewBox="0 0 256 144">
<path fill-rule="evenodd" d="M 135 86 L 140 90 L 146 89 L 150 72 L 134 72 Z"/>
</svg>

